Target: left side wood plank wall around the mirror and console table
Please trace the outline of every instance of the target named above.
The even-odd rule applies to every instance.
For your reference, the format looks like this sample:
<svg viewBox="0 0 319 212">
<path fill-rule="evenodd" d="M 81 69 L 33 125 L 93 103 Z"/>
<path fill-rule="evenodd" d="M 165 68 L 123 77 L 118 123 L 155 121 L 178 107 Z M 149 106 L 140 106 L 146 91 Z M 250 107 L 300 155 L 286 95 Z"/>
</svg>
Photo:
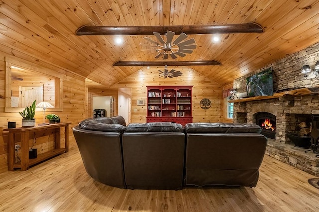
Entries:
<svg viewBox="0 0 319 212">
<path fill-rule="evenodd" d="M 17 127 L 21 126 L 21 116 L 18 112 L 5 112 L 5 57 L 14 56 L 15 59 L 27 62 L 30 64 L 35 64 L 42 66 L 47 70 L 50 70 L 50 75 L 53 77 L 59 77 L 63 79 L 63 96 L 60 101 L 63 101 L 63 111 L 54 112 L 61 117 L 62 122 L 71 122 L 70 130 L 70 143 L 74 142 L 74 137 L 71 132 L 72 127 L 78 124 L 81 120 L 85 118 L 85 79 L 74 73 L 63 69 L 62 67 L 46 62 L 43 60 L 38 60 L 37 58 L 31 57 L 21 52 L 11 51 L 10 48 L 1 45 L 0 48 L 0 173 L 8 170 L 8 133 L 3 132 L 4 128 L 7 128 L 8 121 L 15 121 Z M 36 123 L 43 122 L 43 112 L 36 112 L 35 115 Z M 64 133 L 64 132 L 63 132 Z M 62 135 L 61 137 L 63 137 Z M 41 148 L 42 152 L 47 151 L 51 148 L 52 143 L 51 138 L 38 139 L 36 146 Z M 32 141 L 33 142 L 33 141 Z M 30 141 L 30 144 L 32 143 Z M 45 143 L 45 144 L 44 144 Z"/>
</svg>

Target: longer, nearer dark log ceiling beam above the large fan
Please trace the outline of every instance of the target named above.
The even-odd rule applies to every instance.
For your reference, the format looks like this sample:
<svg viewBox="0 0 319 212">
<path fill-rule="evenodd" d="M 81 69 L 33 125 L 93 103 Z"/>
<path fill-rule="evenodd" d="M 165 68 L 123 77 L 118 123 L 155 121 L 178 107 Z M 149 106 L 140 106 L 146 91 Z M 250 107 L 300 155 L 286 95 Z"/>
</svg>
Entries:
<svg viewBox="0 0 319 212">
<path fill-rule="evenodd" d="M 240 23 L 225 25 L 179 25 L 179 26 L 82 26 L 76 35 L 153 35 L 167 31 L 181 34 L 231 34 L 231 33 L 262 33 L 263 27 L 257 23 Z"/>
</svg>

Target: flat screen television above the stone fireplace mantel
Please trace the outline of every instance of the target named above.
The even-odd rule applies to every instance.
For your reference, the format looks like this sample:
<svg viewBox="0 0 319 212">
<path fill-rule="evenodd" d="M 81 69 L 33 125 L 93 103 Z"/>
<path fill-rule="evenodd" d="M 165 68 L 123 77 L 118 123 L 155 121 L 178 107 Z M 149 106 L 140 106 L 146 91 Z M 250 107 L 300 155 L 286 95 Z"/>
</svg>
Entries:
<svg viewBox="0 0 319 212">
<path fill-rule="evenodd" d="M 272 96 L 273 88 L 273 69 L 268 68 L 262 72 L 246 78 L 247 97 Z"/>
</svg>

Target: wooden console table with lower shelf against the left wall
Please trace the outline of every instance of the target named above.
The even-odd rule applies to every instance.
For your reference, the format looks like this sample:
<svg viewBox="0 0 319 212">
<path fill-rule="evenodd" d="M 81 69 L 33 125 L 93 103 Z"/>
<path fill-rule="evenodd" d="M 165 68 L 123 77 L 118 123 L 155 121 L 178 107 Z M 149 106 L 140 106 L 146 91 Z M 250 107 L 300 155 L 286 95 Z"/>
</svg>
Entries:
<svg viewBox="0 0 319 212">
<path fill-rule="evenodd" d="M 19 127 L 11 129 L 3 129 L 9 134 L 9 170 L 14 168 L 21 168 L 27 170 L 31 165 L 39 163 L 43 160 L 51 158 L 55 155 L 62 154 L 69 151 L 69 124 L 70 123 L 56 123 L 50 125 L 37 125 L 34 127 Z M 65 148 L 61 148 L 61 127 L 65 128 Z M 37 158 L 29 159 L 29 140 L 33 138 L 43 137 L 47 134 L 45 132 L 53 131 L 54 134 L 54 149 L 48 152 L 37 155 Z M 43 133 L 42 133 L 43 132 Z M 17 134 L 21 134 L 21 141 L 16 141 Z M 31 138 L 32 137 L 32 138 Z M 15 143 L 21 142 L 21 162 L 15 163 Z"/>
</svg>

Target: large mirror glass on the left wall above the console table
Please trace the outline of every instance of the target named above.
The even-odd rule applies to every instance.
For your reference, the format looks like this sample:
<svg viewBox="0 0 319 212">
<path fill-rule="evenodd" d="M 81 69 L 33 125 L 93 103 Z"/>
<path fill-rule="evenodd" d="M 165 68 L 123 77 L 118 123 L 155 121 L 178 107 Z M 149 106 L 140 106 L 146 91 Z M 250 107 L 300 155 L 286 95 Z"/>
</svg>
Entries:
<svg viewBox="0 0 319 212">
<path fill-rule="evenodd" d="M 54 106 L 46 111 L 63 110 L 62 77 L 52 76 L 52 70 L 17 58 L 5 57 L 5 65 L 5 112 L 22 111 L 34 100 Z"/>
</svg>

